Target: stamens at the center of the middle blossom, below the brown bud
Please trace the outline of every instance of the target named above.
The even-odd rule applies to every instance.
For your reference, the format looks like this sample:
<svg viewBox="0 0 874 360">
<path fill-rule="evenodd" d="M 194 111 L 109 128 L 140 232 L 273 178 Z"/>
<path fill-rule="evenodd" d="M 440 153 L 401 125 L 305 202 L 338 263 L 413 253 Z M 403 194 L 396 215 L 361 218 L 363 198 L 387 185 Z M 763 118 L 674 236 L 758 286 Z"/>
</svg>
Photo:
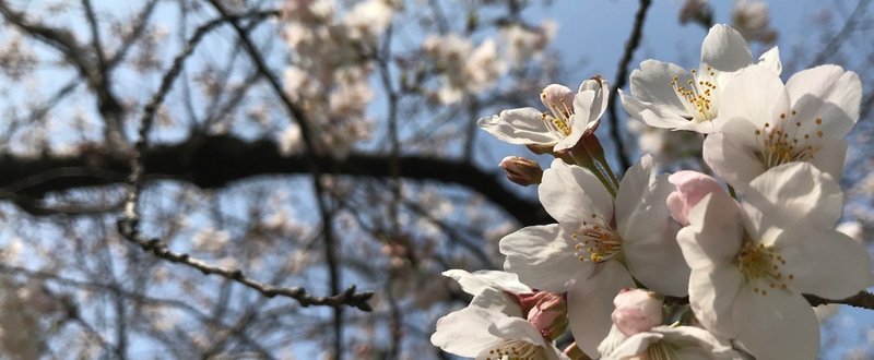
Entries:
<svg viewBox="0 0 874 360">
<path fill-rule="evenodd" d="M 622 250 L 622 238 L 597 214 L 592 214 L 591 219 L 580 223 L 580 227 L 570 237 L 577 240 L 576 254 L 583 262 L 605 262 Z"/>
</svg>

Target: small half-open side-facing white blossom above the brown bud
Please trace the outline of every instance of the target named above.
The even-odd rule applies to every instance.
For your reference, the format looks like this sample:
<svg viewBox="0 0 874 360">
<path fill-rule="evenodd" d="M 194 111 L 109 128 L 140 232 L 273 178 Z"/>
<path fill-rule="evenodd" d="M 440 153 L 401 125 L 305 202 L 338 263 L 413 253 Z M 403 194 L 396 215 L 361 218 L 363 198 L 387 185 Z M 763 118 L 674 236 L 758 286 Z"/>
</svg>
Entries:
<svg viewBox="0 0 874 360">
<path fill-rule="evenodd" d="M 548 112 L 535 108 L 504 110 L 480 119 L 477 124 L 510 144 L 546 145 L 562 152 L 598 129 L 609 93 L 607 82 L 600 76 L 582 82 L 576 95 L 565 86 L 552 84 L 541 92 Z"/>
</svg>

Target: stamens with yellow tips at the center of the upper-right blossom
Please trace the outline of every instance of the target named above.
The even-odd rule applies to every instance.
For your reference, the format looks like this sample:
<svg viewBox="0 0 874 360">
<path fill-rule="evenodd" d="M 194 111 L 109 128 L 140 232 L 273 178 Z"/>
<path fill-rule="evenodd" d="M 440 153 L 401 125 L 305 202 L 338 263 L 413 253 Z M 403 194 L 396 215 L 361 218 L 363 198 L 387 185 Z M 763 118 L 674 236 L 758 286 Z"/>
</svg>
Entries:
<svg viewBox="0 0 874 360">
<path fill-rule="evenodd" d="M 791 117 L 798 112 L 792 110 Z M 761 165 L 766 169 L 792 161 L 810 161 L 819 151 L 819 146 L 812 143 L 812 139 L 823 137 L 822 118 L 816 118 L 813 127 L 801 121 L 787 119 L 786 113 L 780 113 L 778 121 L 771 125 L 766 122 L 760 129 L 755 130 L 756 142 L 760 144 L 756 152 Z"/>
</svg>

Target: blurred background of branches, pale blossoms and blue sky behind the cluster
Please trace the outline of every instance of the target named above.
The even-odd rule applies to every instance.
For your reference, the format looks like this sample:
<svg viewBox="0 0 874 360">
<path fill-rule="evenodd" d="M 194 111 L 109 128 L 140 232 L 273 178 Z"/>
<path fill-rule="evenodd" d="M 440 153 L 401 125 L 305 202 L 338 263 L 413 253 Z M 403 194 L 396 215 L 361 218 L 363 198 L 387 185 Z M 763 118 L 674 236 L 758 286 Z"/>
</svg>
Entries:
<svg viewBox="0 0 874 360">
<path fill-rule="evenodd" d="M 862 77 L 840 229 L 869 243 L 870 3 L 0 0 L 0 358 L 449 359 L 428 337 L 470 299 L 440 273 L 500 268 L 503 236 L 551 221 L 498 167 L 551 158 L 476 120 L 551 83 L 627 89 L 645 59 L 697 68 L 714 23 L 779 46 L 783 80 Z M 597 134 L 618 171 L 706 170 L 699 135 L 618 103 Z M 822 358 L 874 359 L 871 311 L 817 314 Z"/>
</svg>

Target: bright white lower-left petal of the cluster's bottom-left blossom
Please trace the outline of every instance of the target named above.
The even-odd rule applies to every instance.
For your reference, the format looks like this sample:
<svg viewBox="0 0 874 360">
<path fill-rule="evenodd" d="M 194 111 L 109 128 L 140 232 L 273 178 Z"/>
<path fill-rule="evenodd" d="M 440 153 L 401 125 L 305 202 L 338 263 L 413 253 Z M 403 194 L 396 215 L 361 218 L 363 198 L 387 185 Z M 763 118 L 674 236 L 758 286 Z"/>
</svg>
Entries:
<svg viewBox="0 0 874 360">
<path fill-rule="evenodd" d="M 505 317 L 508 316 L 476 307 L 451 312 L 437 321 L 437 332 L 430 336 L 430 343 L 447 352 L 473 358 L 504 340 L 487 329 Z"/>
</svg>

